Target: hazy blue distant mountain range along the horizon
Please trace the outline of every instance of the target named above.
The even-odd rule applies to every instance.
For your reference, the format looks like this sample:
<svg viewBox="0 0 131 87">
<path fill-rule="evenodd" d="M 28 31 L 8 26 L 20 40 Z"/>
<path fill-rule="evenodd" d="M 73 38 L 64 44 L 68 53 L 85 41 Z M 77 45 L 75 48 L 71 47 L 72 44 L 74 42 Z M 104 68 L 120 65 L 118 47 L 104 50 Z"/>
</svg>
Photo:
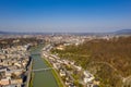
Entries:
<svg viewBox="0 0 131 87">
<path fill-rule="evenodd" d="M 15 32 L 0 32 L 0 35 L 51 35 L 52 33 L 15 33 Z M 56 35 L 64 33 L 55 33 Z M 131 29 L 121 29 L 112 33 L 68 33 L 71 35 L 131 35 Z"/>
</svg>

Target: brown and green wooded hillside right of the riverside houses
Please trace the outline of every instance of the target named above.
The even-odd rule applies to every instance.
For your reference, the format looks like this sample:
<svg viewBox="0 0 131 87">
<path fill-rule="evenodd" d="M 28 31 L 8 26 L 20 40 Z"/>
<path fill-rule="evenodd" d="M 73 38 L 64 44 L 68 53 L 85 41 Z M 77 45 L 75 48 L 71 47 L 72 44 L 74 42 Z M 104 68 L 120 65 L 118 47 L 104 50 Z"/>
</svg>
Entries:
<svg viewBox="0 0 131 87">
<path fill-rule="evenodd" d="M 121 87 L 122 78 L 131 75 L 131 37 L 94 39 L 68 46 L 64 50 L 52 49 L 51 52 L 75 60 L 100 79 L 102 87 Z"/>
</svg>

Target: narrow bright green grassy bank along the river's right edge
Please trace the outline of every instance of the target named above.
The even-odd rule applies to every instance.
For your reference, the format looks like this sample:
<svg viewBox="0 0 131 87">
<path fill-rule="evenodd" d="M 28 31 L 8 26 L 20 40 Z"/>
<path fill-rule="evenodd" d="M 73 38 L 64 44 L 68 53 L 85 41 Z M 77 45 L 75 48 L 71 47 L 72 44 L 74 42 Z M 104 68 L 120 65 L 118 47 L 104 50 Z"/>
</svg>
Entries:
<svg viewBox="0 0 131 87">
<path fill-rule="evenodd" d="M 44 60 L 45 60 L 45 59 L 44 59 Z M 47 60 L 45 60 L 45 62 L 47 63 L 47 65 L 49 65 L 50 67 L 52 67 L 52 65 L 51 65 Z M 61 78 L 59 77 L 59 75 L 58 75 L 58 73 L 57 73 L 57 71 L 56 71 L 56 70 L 51 70 L 51 73 L 53 74 L 53 76 L 55 76 L 55 78 L 56 78 L 56 80 L 57 80 L 57 83 L 58 83 L 58 86 L 59 86 L 59 87 L 64 87 L 63 84 L 62 84 Z"/>
</svg>

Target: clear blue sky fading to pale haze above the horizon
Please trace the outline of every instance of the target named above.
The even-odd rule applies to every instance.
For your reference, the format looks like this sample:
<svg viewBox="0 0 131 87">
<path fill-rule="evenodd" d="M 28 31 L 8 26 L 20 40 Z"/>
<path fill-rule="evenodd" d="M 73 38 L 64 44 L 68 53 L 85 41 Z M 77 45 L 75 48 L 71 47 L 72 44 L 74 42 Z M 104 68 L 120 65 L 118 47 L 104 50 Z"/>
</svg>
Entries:
<svg viewBox="0 0 131 87">
<path fill-rule="evenodd" d="M 107 33 L 131 29 L 131 0 L 0 0 L 0 30 Z"/>
</svg>

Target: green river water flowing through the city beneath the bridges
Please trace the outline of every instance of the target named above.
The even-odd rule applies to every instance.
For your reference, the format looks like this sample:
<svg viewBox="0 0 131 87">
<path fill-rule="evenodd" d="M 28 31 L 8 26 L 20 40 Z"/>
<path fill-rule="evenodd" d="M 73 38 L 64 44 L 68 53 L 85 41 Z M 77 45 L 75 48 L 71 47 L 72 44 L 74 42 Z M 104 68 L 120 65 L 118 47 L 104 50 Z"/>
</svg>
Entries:
<svg viewBox="0 0 131 87">
<path fill-rule="evenodd" d="M 37 47 L 32 50 L 33 70 L 49 67 L 46 61 L 40 58 L 40 54 L 35 54 L 40 52 L 40 49 L 41 47 Z M 33 87 L 58 87 L 51 70 L 34 72 Z"/>
</svg>

